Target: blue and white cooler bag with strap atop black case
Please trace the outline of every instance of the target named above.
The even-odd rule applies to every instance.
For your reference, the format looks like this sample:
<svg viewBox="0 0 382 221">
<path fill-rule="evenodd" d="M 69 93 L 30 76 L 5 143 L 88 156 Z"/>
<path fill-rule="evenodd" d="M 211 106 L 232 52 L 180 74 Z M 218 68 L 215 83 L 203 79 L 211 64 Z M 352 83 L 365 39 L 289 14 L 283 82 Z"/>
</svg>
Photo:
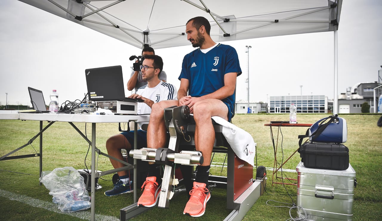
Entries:
<svg viewBox="0 0 382 221">
<path fill-rule="evenodd" d="M 327 120 L 329 121 L 326 122 Z M 309 128 L 309 141 L 311 142 L 345 143 L 347 138 L 346 120 L 338 117 L 337 114 L 325 117 Z"/>
</svg>

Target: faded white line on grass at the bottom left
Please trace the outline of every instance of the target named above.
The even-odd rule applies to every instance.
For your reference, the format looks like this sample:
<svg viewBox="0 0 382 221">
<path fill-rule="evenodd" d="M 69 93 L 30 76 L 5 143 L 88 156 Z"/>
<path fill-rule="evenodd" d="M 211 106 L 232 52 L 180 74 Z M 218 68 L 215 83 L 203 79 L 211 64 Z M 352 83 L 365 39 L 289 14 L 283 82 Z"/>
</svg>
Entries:
<svg viewBox="0 0 382 221">
<path fill-rule="evenodd" d="M 90 209 L 89 210 L 82 210 L 82 211 L 78 211 L 78 212 L 73 212 L 73 213 L 63 213 L 58 209 L 57 204 L 55 204 L 53 202 L 42 201 L 39 199 L 27 197 L 27 196 L 20 195 L 17 193 L 8 192 L 8 191 L 2 190 L 2 189 L 0 189 L 0 196 L 4 197 L 4 198 L 8 198 L 10 200 L 16 200 L 16 201 L 19 201 L 21 203 L 28 204 L 29 206 L 49 210 L 49 211 L 52 211 L 55 213 L 61 213 L 61 214 L 69 215 L 69 216 L 74 216 L 74 217 L 77 217 L 80 219 L 91 220 Z M 95 214 L 95 220 L 118 221 L 120 219 L 116 218 L 114 216 L 105 216 L 105 215 Z"/>
</svg>

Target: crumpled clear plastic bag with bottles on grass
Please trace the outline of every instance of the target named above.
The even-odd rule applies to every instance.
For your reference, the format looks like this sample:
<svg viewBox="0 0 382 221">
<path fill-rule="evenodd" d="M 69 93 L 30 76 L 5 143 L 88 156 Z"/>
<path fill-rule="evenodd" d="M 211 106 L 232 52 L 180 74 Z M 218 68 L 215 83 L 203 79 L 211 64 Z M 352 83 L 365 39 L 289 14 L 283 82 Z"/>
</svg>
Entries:
<svg viewBox="0 0 382 221">
<path fill-rule="evenodd" d="M 75 212 L 90 208 L 90 197 L 84 184 L 84 177 L 73 167 L 43 171 L 40 182 L 50 190 L 53 203 L 62 212 Z"/>
</svg>

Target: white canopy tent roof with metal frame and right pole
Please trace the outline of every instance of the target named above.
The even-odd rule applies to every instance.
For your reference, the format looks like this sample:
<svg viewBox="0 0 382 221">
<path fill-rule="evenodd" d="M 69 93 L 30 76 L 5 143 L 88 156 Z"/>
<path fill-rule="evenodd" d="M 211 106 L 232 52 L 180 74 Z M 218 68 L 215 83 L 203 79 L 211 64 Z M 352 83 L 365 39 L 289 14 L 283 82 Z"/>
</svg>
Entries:
<svg viewBox="0 0 382 221">
<path fill-rule="evenodd" d="M 184 46 L 189 18 L 204 16 L 215 42 L 334 32 L 337 113 L 337 29 L 342 0 L 19 0 L 138 48 Z M 73 33 L 73 38 L 76 36 Z"/>
</svg>

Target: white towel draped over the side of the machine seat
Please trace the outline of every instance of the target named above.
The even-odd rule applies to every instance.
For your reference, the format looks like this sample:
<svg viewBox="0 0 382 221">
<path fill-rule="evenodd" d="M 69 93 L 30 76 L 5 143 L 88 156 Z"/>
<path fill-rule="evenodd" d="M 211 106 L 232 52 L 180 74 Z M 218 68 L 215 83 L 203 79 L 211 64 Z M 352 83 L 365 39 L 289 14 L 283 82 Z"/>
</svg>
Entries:
<svg viewBox="0 0 382 221">
<path fill-rule="evenodd" d="M 214 116 L 212 119 L 223 126 L 223 135 L 233 149 L 233 152 L 240 159 L 254 166 L 256 143 L 253 141 L 252 136 L 221 117 Z"/>
</svg>

